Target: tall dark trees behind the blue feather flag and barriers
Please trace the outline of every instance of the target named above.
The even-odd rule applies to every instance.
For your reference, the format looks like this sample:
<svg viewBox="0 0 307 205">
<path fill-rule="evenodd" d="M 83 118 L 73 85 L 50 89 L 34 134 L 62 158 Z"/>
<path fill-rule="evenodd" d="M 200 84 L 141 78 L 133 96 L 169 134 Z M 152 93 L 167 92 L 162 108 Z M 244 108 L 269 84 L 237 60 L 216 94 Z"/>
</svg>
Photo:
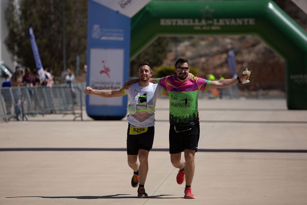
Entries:
<svg viewBox="0 0 307 205">
<path fill-rule="evenodd" d="M 42 64 L 56 75 L 63 70 L 63 30 L 61 0 L 10 0 L 6 10 L 9 34 L 5 40 L 15 60 L 35 68 L 29 41 L 29 25 L 33 25 Z M 65 1 L 66 62 L 69 67 L 86 62 L 87 0 Z"/>
</svg>

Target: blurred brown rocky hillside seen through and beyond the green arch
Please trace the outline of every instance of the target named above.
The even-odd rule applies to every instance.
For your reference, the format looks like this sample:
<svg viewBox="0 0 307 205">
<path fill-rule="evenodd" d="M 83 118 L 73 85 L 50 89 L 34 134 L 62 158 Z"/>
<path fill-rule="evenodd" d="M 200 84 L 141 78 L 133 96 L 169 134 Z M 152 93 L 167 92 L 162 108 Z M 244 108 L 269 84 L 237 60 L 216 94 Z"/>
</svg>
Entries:
<svg viewBox="0 0 307 205">
<path fill-rule="evenodd" d="M 307 30 L 307 14 L 290 0 L 275 2 Z M 180 37 L 177 39 L 177 57 L 175 37 L 170 39 L 169 52 L 164 61 L 166 65 L 173 65 L 177 57 L 185 57 L 191 67 L 198 68 L 199 77 L 206 78 L 208 73 L 212 73 L 216 77 L 221 74 L 229 78 L 227 52 L 234 48 L 237 73 L 249 68 L 253 71 L 253 82 L 285 81 L 284 60 L 256 35 Z"/>
</svg>

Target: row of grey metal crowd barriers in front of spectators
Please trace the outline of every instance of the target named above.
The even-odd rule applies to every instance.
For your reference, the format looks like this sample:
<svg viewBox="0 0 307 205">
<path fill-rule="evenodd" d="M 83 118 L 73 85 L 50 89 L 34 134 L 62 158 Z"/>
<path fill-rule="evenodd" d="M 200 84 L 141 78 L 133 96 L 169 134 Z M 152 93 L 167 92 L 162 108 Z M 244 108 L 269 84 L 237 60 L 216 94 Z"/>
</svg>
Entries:
<svg viewBox="0 0 307 205">
<path fill-rule="evenodd" d="M 0 119 L 28 120 L 37 114 L 72 114 L 82 116 L 85 83 L 46 86 L 4 87 L 0 93 Z"/>
</svg>

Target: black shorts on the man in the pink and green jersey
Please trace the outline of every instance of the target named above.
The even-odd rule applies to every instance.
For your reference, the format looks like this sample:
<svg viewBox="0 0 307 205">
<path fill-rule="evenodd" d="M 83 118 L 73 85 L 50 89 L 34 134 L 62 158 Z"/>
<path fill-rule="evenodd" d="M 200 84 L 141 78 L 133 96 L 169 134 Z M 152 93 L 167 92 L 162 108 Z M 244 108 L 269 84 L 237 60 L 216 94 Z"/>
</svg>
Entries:
<svg viewBox="0 0 307 205">
<path fill-rule="evenodd" d="M 184 152 L 185 149 L 197 152 L 199 140 L 199 124 L 191 126 L 169 126 L 169 153 Z"/>
</svg>

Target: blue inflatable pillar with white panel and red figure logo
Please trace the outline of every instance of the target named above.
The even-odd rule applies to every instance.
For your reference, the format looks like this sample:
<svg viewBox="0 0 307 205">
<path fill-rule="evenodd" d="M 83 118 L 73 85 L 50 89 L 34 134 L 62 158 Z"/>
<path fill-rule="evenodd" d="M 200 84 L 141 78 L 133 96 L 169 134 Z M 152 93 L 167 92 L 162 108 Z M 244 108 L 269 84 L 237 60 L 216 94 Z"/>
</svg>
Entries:
<svg viewBox="0 0 307 205">
<path fill-rule="evenodd" d="M 129 78 L 130 21 L 119 12 L 88 1 L 87 86 L 117 89 Z M 127 113 L 127 96 L 86 96 L 87 115 L 95 120 L 119 120 Z"/>
</svg>

